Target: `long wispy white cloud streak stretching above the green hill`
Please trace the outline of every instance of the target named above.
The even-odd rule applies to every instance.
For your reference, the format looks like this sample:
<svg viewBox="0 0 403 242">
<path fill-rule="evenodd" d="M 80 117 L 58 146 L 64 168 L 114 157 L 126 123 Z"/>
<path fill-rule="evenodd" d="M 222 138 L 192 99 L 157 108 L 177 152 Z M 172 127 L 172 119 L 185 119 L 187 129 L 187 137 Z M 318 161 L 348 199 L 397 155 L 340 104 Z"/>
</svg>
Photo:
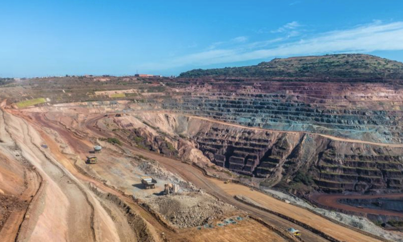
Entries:
<svg viewBox="0 0 403 242">
<path fill-rule="evenodd" d="M 297 26 L 297 24 L 290 24 L 289 26 Z M 403 22 L 388 24 L 373 22 L 351 29 L 316 34 L 298 41 L 285 42 L 286 40 L 287 38 L 278 38 L 239 44 L 229 49 L 207 50 L 153 64 L 152 67 L 155 70 L 187 65 L 206 66 L 235 63 L 276 56 L 403 50 Z"/>
</svg>

